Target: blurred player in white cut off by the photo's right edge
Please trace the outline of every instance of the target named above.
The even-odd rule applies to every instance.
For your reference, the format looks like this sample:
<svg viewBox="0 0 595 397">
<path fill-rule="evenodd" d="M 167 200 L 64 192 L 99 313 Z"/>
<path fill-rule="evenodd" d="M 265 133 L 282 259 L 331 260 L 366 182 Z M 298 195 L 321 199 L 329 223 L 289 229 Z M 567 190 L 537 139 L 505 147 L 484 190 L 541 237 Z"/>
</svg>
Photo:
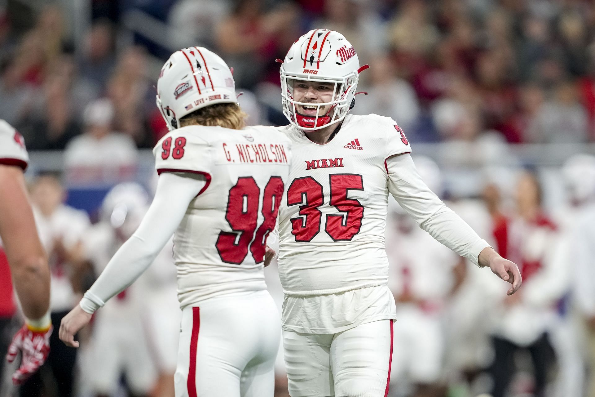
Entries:
<svg viewBox="0 0 595 397">
<path fill-rule="evenodd" d="M 559 396 L 595 396 L 595 156 L 574 155 L 562 167 L 571 208 L 563 212 L 566 267 L 572 268 L 574 310 L 558 330 Z M 561 332 L 560 332 L 561 331 Z M 577 365 L 578 364 L 578 365 Z M 583 370 L 586 364 L 590 371 Z M 586 377 L 585 377 L 586 375 Z M 578 390 L 578 391 L 577 391 Z"/>
</svg>

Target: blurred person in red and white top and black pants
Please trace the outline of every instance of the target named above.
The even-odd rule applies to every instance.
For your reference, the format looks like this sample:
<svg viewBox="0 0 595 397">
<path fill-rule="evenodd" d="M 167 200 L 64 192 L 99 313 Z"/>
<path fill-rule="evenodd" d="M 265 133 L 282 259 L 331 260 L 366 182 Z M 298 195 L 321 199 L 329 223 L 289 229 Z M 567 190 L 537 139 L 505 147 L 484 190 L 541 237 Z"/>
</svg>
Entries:
<svg viewBox="0 0 595 397">
<path fill-rule="evenodd" d="M 559 253 L 558 227 L 544 211 L 541 186 L 534 174 L 524 172 L 516 185 L 516 215 L 506 228 L 506 252 L 521 264 L 524 281 L 520 293 L 508 296 L 492 311 L 494 361 L 490 368 L 493 397 L 504 397 L 518 371 L 514 356 L 529 352 L 533 363 L 533 394 L 544 396 L 555 363 L 551 330 L 556 304 L 568 285 L 569 272 Z M 521 386 L 524 387 L 524 386 Z M 517 390 L 528 392 L 530 390 Z"/>
</svg>

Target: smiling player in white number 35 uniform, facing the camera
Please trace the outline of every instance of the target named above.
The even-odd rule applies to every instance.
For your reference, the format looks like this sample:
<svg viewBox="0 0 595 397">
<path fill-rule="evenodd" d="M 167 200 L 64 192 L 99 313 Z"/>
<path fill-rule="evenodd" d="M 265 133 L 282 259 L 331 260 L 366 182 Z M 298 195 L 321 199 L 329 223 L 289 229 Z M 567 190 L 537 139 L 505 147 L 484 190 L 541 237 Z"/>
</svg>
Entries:
<svg viewBox="0 0 595 397">
<path fill-rule="evenodd" d="M 282 62 L 291 124 L 281 131 L 293 148 L 278 228 L 289 392 L 386 396 L 396 318 L 384 250 L 389 192 L 435 239 L 511 282 L 509 294 L 521 276 L 425 186 L 394 120 L 347 114 L 367 65 L 343 35 L 312 30 Z"/>
</svg>

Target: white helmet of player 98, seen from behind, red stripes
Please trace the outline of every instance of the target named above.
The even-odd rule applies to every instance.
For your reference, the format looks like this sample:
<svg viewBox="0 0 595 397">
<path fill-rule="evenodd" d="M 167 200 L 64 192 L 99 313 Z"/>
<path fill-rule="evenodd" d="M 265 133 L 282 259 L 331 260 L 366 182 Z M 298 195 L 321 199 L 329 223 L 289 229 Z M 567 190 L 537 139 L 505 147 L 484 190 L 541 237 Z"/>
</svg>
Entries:
<svg viewBox="0 0 595 397">
<path fill-rule="evenodd" d="M 157 80 L 157 108 L 168 129 L 180 118 L 214 104 L 237 104 L 236 83 L 226 62 L 204 47 L 189 47 L 171 54 Z"/>
</svg>

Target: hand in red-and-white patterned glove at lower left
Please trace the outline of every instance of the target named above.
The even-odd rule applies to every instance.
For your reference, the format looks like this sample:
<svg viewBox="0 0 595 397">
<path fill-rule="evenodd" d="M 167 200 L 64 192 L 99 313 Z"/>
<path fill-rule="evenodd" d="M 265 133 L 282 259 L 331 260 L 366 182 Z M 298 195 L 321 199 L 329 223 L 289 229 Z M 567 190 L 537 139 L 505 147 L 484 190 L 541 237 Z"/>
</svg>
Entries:
<svg viewBox="0 0 595 397">
<path fill-rule="evenodd" d="M 6 359 L 12 362 L 22 352 L 21 366 L 12 374 L 12 383 L 21 385 L 30 376 L 35 374 L 43 365 L 49 355 L 49 336 L 52 335 L 52 326 L 41 332 L 30 330 L 27 324 L 18 330 L 12 338 Z"/>
</svg>

